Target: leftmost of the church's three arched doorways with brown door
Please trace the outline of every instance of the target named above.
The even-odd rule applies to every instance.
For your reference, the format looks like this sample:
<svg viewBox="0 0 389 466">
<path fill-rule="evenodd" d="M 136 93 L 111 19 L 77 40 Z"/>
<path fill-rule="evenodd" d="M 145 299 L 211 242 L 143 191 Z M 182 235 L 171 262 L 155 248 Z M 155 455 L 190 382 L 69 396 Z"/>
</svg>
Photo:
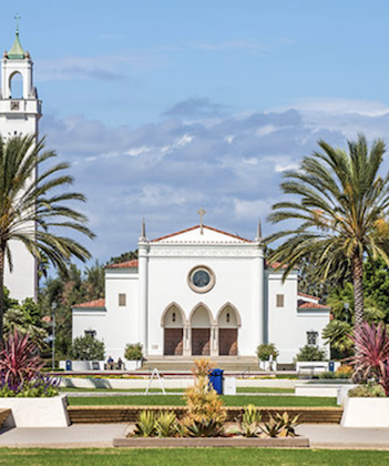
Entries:
<svg viewBox="0 0 389 466">
<path fill-rule="evenodd" d="M 164 327 L 165 356 L 182 356 L 184 353 L 184 321 L 183 310 L 175 303 L 166 307 L 162 314 L 162 326 Z"/>
</svg>

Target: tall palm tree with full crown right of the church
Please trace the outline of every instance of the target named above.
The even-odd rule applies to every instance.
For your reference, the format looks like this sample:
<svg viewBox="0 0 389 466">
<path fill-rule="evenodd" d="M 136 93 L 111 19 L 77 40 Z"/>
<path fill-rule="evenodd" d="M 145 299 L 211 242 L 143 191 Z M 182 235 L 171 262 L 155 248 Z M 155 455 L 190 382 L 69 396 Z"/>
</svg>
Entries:
<svg viewBox="0 0 389 466">
<path fill-rule="evenodd" d="M 364 322 L 362 261 L 381 256 L 389 265 L 389 174 L 381 175 L 385 143 L 370 151 L 364 135 L 348 141 L 348 151 L 319 141 L 321 151 L 305 156 L 297 171 L 285 173 L 281 190 L 289 200 L 273 206 L 273 223 L 293 221 L 272 261 L 285 266 L 284 277 L 314 255 L 320 281 L 351 272 L 356 326 Z"/>
</svg>

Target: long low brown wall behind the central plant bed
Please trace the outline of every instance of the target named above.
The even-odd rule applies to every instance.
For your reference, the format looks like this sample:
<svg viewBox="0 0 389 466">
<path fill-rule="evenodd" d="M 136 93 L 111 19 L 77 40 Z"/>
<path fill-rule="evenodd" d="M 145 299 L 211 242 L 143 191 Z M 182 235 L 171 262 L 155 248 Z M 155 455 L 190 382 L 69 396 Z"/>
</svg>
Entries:
<svg viewBox="0 0 389 466">
<path fill-rule="evenodd" d="M 134 423 L 141 411 L 174 411 L 180 417 L 185 406 L 69 406 L 68 412 L 72 424 L 117 424 Z M 289 416 L 299 415 L 301 424 L 340 424 L 344 409 L 341 407 L 259 407 L 263 421 L 269 414 L 285 413 Z M 234 422 L 243 414 L 244 407 L 226 407 L 227 421 Z"/>
</svg>

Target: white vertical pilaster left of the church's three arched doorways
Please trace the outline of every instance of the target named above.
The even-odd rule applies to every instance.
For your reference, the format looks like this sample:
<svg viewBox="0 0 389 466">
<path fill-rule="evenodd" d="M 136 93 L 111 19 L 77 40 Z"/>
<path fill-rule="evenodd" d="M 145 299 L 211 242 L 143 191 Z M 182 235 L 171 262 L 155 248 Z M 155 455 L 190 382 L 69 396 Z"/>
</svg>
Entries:
<svg viewBox="0 0 389 466">
<path fill-rule="evenodd" d="M 149 265 L 149 242 L 145 237 L 140 237 L 137 243 L 139 253 L 139 286 L 140 286 L 140 312 L 139 312 L 139 338 L 143 345 L 143 353 L 149 353 L 147 342 L 147 265 Z"/>
</svg>

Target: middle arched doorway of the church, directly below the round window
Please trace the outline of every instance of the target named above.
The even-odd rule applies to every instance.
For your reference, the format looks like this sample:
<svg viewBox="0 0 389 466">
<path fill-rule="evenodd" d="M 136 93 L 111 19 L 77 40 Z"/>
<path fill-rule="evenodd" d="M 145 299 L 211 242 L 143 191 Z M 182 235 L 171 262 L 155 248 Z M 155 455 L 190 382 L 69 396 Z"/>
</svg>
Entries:
<svg viewBox="0 0 389 466">
<path fill-rule="evenodd" d="M 204 304 L 198 304 L 191 313 L 192 355 L 209 356 L 212 315 Z"/>
</svg>

